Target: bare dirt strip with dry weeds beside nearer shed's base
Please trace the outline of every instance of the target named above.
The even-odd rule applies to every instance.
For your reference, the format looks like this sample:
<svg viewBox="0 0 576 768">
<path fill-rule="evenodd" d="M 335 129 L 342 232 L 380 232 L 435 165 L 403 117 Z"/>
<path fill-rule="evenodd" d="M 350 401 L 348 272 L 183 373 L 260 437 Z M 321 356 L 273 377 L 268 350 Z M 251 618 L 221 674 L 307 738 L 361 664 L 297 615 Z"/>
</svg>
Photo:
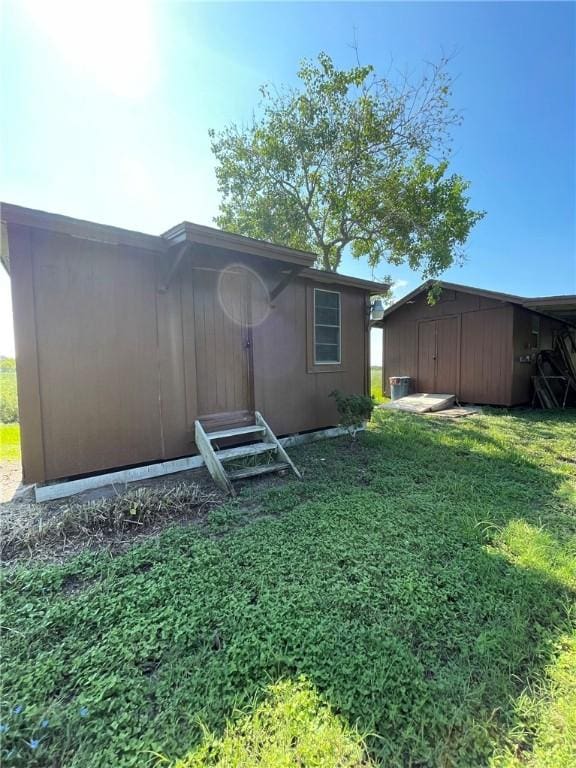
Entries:
<svg viewBox="0 0 576 768">
<path fill-rule="evenodd" d="M 242 522 L 274 517 L 260 509 L 261 494 L 286 479 L 274 474 L 234 483 L 236 492 L 242 492 Z M 151 514 L 141 508 L 144 495 L 147 506 L 151 502 L 156 505 Z M 130 514 L 126 499 L 136 502 L 136 514 Z M 64 563 L 82 552 L 96 550 L 121 554 L 140 541 L 158 537 L 172 525 L 207 529 L 209 513 L 230 501 L 205 468 L 128 485 L 108 485 L 41 504 L 31 501 L 31 495 L 20 497 L 0 503 L 1 564 Z M 110 510 L 106 511 L 110 504 L 123 506 L 124 514 L 110 515 Z M 241 524 L 239 517 L 236 521 Z M 212 531 L 210 535 L 222 534 Z M 71 585 L 70 592 L 74 591 Z"/>
</svg>

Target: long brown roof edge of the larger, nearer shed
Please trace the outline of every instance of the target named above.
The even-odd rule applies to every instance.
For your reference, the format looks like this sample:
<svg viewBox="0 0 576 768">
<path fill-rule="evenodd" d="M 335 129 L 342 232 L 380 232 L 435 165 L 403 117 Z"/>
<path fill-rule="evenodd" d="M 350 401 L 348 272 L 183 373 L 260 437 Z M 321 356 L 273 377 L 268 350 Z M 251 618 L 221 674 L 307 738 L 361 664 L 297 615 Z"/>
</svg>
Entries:
<svg viewBox="0 0 576 768">
<path fill-rule="evenodd" d="M 19 224 L 34 227 L 36 229 L 50 230 L 71 237 L 79 237 L 85 240 L 96 240 L 112 245 L 128 245 L 136 248 L 166 252 L 171 246 L 186 241 L 210 245 L 237 253 L 245 253 L 272 261 L 284 262 L 293 265 L 296 272 L 310 280 L 320 280 L 325 283 L 346 285 L 360 288 L 371 294 L 385 293 L 388 285 L 371 280 L 362 280 L 356 277 L 341 275 L 336 272 L 326 272 L 314 269 L 316 255 L 283 245 L 276 245 L 264 240 L 255 240 L 233 232 L 225 232 L 215 227 L 207 227 L 201 224 L 193 224 L 189 221 L 181 222 L 162 235 L 149 235 L 144 232 L 136 232 L 130 229 L 113 227 L 108 224 L 96 224 L 83 219 L 75 219 L 70 216 L 62 216 L 57 213 L 38 211 L 10 203 L 0 203 L 0 221 L 2 222 L 2 242 L 0 247 L 0 261 L 7 272 L 10 272 L 10 260 L 8 243 L 5 237 L 5 224 Z"/>
</svg>

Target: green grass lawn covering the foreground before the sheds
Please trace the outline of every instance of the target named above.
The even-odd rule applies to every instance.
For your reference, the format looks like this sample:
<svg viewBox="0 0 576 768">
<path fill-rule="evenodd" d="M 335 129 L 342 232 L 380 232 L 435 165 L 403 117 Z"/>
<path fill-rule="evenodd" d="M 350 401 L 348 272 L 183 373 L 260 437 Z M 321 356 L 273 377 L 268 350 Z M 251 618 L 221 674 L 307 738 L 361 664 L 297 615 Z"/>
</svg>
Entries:
<svg viewBox="0 0 576 768">
<path fill-rule="evenodd" d="M 576 412 L 378 412 L 207 526 L 3 576 L 6 766 L 576 765 Z"/>
</svg>

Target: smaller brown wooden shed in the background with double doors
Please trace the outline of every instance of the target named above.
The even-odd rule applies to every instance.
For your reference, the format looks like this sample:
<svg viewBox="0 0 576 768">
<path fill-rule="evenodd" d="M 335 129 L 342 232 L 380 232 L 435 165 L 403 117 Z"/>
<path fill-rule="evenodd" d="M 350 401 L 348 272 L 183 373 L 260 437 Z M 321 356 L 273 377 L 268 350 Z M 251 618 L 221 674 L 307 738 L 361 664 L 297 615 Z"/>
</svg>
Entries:
<svg viewBox="0 0 576 768">
<path fill-rule="evenodd" d="M 423 283 L 384 313 L 383 381 L 410 376 L 413 391 L 455 394 L 465 403 L 521 405 L 531 398 L 536 354 L 576 325 L 576 296 L 527 299 L 440 282 Z"/>
</svg>

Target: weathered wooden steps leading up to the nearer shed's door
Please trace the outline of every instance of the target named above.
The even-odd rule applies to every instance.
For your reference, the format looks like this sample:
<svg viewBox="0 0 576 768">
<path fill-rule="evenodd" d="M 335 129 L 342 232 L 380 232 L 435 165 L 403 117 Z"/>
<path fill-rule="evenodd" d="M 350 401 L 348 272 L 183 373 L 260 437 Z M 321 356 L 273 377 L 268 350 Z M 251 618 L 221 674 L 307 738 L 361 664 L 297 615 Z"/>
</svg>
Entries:
<svg viewBox="0 0 576 768">
<path fill-rule="evenodd" d="M 292 470 L 299 480 L 302 479 L 302 475 L 258 411 L 254 412 L 254 424 L 248 426 L 206 432 L 202 423 L 196 421 L 194 427 L 196 447 L 200 451 L 212 479 L 225 493 L 235 495 L 233 480 L 243 480 L 246 477 L 280 472 L 286 469 Z M 260 442 L 239 445 L 235 448 L 219 449 L 217 446 L 220 441 L 236 440 L 238 442 L 245 439 L 259 439 Z M 229 462 L 239 462 L 251 456 L 263 456 L 272 460 L 239 468 L 229 466 Z"/>
</svg>

